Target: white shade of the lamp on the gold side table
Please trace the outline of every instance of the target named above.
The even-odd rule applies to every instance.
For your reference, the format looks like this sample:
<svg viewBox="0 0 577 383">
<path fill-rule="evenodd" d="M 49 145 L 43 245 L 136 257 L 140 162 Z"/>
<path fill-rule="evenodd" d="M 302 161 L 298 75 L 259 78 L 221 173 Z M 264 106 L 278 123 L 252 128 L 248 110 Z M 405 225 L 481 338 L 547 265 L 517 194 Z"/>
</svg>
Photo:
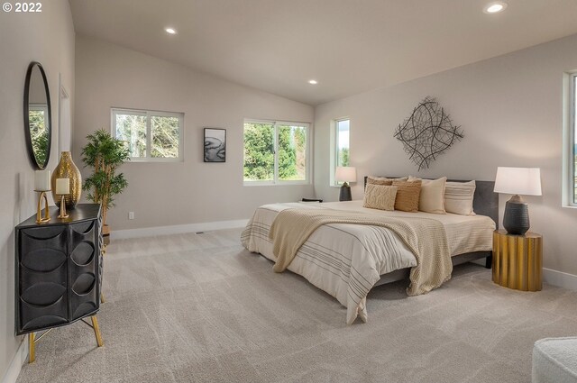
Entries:
<svg viewBox="0 0 577 383">
<path fill-rule="evenodd" d="M 495 193 L 541 196 L 541 169 L 497 168 Z"/>
</svg>

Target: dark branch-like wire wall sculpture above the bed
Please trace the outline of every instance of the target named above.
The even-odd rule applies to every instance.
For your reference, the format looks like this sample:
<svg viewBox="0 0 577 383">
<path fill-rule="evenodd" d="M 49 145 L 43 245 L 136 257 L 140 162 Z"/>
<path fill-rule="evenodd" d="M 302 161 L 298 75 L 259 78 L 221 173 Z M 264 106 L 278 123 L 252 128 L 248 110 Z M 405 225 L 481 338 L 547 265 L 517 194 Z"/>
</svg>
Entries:
<svg viewBox="0 0 577 383">
<path fill-rule="evenodd" d="M 395 138 L 403 142 L 403 149 L 409 160 L 418 169 L 429 168 L 436 157 L 449 149 L 454 141 L 463 136 L 461 126 L 454 126 L 443 107 L 435 98 L 427 96 L 417 105 L 413 113 L 398 125 Z"/>
</svg>

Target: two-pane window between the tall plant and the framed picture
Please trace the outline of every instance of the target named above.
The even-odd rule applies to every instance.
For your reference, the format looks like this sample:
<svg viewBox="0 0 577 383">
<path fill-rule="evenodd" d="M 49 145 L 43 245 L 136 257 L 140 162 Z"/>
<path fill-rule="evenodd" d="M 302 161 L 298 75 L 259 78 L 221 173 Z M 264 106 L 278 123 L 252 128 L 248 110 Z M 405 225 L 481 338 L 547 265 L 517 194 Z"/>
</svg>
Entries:
<svg viewBox="0 0 577 383">
<path fill-rule="evenodd" d="M 182 160 L 184 114 L 112 109 L 112 133 L 130 147 L 131 160 Z"/>
</svg>

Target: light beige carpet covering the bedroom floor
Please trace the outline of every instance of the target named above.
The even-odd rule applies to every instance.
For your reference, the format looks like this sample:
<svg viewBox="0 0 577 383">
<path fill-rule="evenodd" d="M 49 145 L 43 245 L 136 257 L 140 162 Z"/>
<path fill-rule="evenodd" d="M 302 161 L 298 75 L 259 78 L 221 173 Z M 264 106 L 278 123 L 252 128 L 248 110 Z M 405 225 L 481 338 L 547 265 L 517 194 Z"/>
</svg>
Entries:
<svg viewBox="0 0 577 383">
<path fill-rule="evenodd" d="M 82 323 L 39 342 L 24 382 L 528 382 L 533 343 L 577 334 L 577 292 L 455 268 L 425 296 L 374 288 L 369 322 L 239 243 L 241 230 L 114 241 L 105 346 Z M 546 254 L 545 254 L 546 257 Z"/>
</svg>

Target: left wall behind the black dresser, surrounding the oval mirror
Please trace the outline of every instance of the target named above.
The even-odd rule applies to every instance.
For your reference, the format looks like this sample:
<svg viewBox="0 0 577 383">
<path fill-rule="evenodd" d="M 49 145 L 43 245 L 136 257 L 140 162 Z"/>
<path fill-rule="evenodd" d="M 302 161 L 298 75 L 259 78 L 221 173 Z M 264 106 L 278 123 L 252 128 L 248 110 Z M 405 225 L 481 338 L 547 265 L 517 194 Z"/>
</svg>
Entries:
<svg viewBox="0 0 577 383">
<path fill-rule="evenodd" d="M 35 213 L 37 197 L 25 150 L 24 78 L 31 61 L 41 62 L 50 87 L 52 125 L 58 126 L 59 72 L 70 92 L 74 91 L 74 28 L 69 2 L 44 2 L 41 14 L 0 12 L 0 36 L 0 381 L 8 381 L 17 374 L 16 350 L 23 340 L 14 336 L 14 226 Z M 48 169 L 58 163 L 57 142 L 53 133 Z"/>
</svg>

